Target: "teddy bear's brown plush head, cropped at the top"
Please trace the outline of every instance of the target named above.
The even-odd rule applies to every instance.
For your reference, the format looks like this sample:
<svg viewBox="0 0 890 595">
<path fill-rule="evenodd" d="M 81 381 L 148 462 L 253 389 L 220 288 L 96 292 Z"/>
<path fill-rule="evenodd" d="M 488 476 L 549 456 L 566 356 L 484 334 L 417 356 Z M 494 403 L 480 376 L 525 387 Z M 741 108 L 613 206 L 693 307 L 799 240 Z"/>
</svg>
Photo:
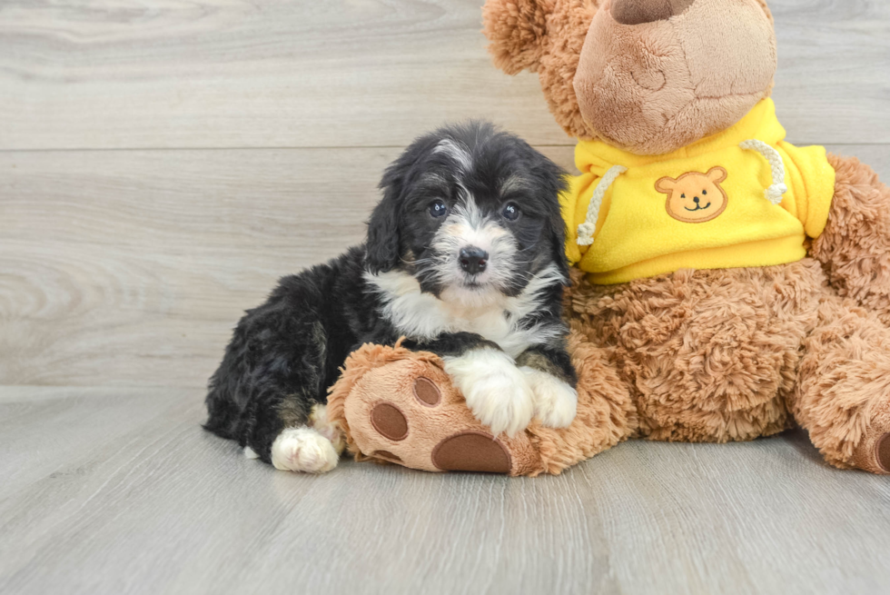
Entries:
<svg viewBox="0 0 890 595">
<path fill-rule="evenodd" d="M 768 96 L 766 0 L 487 0 L 508 74 L 538 72 L 567 133 L 664 154 L 736 124 Z"/>
</svg>

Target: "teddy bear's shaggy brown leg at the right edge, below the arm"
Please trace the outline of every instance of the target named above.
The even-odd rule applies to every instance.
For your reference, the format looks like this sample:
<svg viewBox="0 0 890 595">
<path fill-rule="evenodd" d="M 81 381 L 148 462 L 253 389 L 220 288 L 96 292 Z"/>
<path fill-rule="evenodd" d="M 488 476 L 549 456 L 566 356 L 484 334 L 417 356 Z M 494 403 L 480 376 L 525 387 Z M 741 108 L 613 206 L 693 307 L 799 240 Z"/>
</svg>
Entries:
<svg viewBox="0 0 890 595">
<path fill-rule="evenodd" d="M 791 411 L 826 461 L 890 474 L 890 329 L 835 295 L 818 314 Z"/>
</svg>

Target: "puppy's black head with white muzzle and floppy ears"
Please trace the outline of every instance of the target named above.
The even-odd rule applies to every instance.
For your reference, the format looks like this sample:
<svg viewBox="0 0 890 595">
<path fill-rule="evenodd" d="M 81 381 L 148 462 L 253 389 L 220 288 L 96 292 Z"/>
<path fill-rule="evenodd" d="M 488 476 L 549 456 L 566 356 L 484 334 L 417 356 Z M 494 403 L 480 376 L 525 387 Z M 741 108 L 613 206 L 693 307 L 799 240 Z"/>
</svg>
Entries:
<svg viewBox="0 0 890 595">
<path fill-rule="evenodd" d="M 563 174 L 488 124 L 420 138 L 387 170 L 371 217 L 368 264 L 466 304 L 519 294 L 550 264 L 568 276 L 559 213 Z"/>
</svg>

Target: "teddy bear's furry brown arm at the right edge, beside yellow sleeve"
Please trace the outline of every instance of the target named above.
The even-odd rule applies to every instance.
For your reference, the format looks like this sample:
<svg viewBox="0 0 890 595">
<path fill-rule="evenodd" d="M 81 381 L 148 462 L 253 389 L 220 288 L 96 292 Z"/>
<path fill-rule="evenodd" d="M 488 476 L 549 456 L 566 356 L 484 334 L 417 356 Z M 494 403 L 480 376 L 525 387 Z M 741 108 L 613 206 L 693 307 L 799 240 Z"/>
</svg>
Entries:
<svg viewBox="0 0 890 595">
<path fill-rule="evenodd" d="M 836 170 L 835 197 L 812 255 L 838 293 L 890 326 L 890 187 L 858 159 L 828 161 Z"/>
</svg>

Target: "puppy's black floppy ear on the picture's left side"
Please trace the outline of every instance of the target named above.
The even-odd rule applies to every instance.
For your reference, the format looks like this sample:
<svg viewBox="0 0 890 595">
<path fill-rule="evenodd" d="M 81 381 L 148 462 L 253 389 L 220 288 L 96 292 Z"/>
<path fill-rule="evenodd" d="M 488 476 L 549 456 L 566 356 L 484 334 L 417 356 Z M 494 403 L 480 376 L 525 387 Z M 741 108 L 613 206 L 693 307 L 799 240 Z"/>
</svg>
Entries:
<svg viewBox="0 0 890 595">
<path fill-rule="evenodd" d="M 399 206 L 406 169 L 402 161 L 403 158 L 391 164 L 383 174 L 383 198 L 368 222 L 365 263 L 371 273 L 386 273 L 399 263 Z"/>
</svg>

